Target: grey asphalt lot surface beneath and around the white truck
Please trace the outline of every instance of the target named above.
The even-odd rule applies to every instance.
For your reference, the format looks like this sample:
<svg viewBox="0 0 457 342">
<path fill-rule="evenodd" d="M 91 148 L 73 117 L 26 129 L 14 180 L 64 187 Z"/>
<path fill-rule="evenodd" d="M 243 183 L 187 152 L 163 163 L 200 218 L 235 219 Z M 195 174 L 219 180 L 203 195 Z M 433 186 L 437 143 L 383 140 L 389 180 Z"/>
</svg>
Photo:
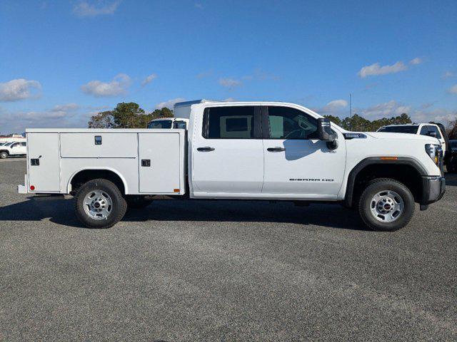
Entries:
<svg viewBox="0 0 457 342">
<path fill-rule="evenodd" d="M 0 160 L 0 340 L 457 339 L 457 177 L 398 232 L 338 205 L 162 201 L 85 229 Z"/>
</svg>

